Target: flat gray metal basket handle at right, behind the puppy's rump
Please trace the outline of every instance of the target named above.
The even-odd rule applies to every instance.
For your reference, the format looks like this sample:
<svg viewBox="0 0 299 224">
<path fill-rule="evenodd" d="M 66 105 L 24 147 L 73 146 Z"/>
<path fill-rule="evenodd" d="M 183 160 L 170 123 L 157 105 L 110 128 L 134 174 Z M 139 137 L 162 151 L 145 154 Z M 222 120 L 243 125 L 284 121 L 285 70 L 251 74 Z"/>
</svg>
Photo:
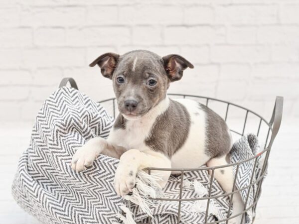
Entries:
<svg viewBox="0 0 299 224">
<path fill-rule="evenodd" d="M 283 107 L 284 107 L 284 98 L 283 97 L 276 97 L 274 110 L 272 113 L 272 117 L 270 119 L 270 125 L 273 125 L 271 139 L 268 145 L 268 148 L 272 147 L 273 141 L 279 131 L 282 116 L 283 116 Z"/>
</svg>

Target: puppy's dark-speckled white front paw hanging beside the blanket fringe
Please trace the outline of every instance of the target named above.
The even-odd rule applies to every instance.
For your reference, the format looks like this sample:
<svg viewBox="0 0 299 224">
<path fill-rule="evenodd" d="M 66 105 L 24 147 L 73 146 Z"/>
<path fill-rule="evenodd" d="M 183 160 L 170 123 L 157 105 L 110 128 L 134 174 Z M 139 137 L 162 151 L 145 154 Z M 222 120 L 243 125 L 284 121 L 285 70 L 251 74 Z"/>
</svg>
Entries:
<svg viewBox="0 0 299 224">
<path fill-rule="evenodd" d="M 137 175 L 137 167 L 130 164 L 119 164 L 114 179 L 114 186 L 118 196 L 124 197 L 135 186 L 136 183 L 136 175 Z"/>
</svg>

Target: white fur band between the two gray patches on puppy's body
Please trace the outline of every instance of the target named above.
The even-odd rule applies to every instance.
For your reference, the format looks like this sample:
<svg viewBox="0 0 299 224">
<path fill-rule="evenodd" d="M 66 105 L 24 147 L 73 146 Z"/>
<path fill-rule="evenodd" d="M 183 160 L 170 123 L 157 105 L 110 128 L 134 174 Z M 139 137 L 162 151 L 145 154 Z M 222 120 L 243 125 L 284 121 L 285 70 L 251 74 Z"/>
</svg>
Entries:
<svg viewBox="0 0 299 224">
<path fill-rule="evenodd" d="M 185 106 L 189 112 L 190 129 L 185 143 L 172 156 L 171 167 L 197 168 L 210 159 L 210 157 L 205 154 L 206 114 L 195 101 L 189 99 L 175 99 L 175 101 Z"/>
</svg>

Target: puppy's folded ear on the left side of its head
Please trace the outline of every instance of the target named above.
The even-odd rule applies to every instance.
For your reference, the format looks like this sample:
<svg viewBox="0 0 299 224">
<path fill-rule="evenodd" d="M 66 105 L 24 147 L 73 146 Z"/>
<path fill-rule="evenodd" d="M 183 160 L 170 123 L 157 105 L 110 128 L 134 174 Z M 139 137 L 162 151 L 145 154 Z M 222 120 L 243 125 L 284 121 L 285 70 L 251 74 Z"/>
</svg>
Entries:
<svg viewBox="0 0 299 224">
<path fill-rule="evenodd" d="M 119 55 L 115 53 L 106 53 L 99 56 L 96 60 L 90 63 L 90 67 L 94 67 L 96 64 L 101 68 L 101 73 L 104 77 L 112 79 L 114 69 L 116 68 Z"/>
</svg>

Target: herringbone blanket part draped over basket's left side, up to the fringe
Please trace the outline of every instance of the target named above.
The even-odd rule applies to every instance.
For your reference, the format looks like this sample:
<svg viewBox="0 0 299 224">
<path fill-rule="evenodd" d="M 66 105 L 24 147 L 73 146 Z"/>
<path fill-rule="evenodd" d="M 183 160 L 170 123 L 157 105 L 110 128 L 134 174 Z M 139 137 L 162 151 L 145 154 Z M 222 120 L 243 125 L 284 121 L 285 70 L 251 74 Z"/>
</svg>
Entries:
<svg viewBox="0 0 299 224">
<path fill-rule="evenodd" d="M 117 159 L 100 156 L 75 172 L 76 149 L 95 136 L 107 137 L 112 117 L 72 88 L 55 91 L 36 117 L 29 148 L 20 158 L 12 193 L 43 224 L 106 224 L 117 221 L 122 200 L 113 187 Z"/>
</svg>

